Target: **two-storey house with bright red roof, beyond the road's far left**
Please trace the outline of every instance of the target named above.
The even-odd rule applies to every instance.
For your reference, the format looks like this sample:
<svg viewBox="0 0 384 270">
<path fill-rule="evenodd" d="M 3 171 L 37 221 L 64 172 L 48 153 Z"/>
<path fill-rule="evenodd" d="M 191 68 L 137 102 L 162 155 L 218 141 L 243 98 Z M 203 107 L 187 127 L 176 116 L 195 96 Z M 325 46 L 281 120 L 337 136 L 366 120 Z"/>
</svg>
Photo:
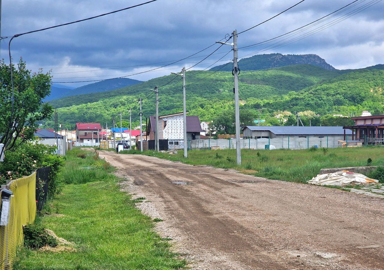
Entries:
<svg viewBox="0 0 384 270">
<path fill-rule="evenodd" d="M 76 142 L 96 144 L 105 141 L 107 137 L 101 135 L 99 123 L 76 123 Z"/>
</svg>

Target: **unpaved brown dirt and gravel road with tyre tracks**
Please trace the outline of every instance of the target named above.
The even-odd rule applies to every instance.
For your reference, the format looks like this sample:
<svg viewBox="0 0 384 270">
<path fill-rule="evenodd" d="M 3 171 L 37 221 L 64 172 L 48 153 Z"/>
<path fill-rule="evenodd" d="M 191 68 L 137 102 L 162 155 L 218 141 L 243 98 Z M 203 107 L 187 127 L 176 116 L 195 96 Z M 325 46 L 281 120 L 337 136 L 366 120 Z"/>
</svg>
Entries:
<svg viewBox="0 0 384 270">
<path fill-rule="evenodd" d="M 384 269 L 384 200 L 100 151 L 193 269 Z M 187 185 L 174 184 L 186 182 Z"/>
</svg>

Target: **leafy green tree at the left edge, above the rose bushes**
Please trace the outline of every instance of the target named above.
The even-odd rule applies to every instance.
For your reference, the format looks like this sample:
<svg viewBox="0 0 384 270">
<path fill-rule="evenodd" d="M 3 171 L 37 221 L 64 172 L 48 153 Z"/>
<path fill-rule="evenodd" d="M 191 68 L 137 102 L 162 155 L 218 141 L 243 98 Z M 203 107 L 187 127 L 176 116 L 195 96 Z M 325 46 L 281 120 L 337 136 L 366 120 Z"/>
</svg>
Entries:
<svg viewBox="0 0 384 270">
<path fill-rule="evenodd" d="M 50 93 L 51 75 L 43 74 L 41 70 L 31 74 L 21 58 L 17 68 L 12 65 L 12 72 L 13 102 L 10 66 L 0 62 L 0 143 L 4 144 L 5 150 L 33 139 L 36 122 L 53 113 L 53 108 L 43 101 Z"/>
</svg>

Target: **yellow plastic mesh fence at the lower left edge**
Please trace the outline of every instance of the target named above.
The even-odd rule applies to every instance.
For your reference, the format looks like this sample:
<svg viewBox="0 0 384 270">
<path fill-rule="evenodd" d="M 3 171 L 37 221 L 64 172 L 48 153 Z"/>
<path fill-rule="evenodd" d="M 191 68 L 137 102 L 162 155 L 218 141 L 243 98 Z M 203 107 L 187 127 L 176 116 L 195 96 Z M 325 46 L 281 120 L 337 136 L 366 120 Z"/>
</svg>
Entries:
<svg viewBox="0 0 384 270">
<path fill-rule="evenodd" d="M 36 217 L 36 172 L 8 184 L 13 192 L 7 226 L 0 226 L 0 270 L 11 270 L 16 248 L 23 244 L 23 225 Z"/>
</svg>

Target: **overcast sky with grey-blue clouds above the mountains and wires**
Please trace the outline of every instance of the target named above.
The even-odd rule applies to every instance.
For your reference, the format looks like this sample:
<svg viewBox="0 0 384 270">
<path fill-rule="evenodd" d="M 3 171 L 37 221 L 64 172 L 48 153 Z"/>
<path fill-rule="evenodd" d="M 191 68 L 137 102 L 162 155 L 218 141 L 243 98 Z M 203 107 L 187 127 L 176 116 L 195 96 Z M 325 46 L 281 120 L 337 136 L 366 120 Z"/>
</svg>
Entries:
<svg viewBox="0 0 384 270">
<path fill-rule="evenodd" d="M 358 0 L 318 24 L 239 50 L 239 57 L 259 53 L 314 53 L 338 69 L 384 63 L 384 2 Z M 129 7 L 145 0 L 3 0 L 1 36 L 50 27 Z M 158 68 L 192 55 L 234 29 L 256 25 L 299 0 L 158 0 L 86 22 L 31 33 L 12 41 L 12 56 L 28 68 L 52 70 L 54 82 L 90 81 Z M 291 10 L 238 35 L 238 47 L 260 43 L 317 20 L 353 0 L 305 0 Z M 0 57 L 8 60 L 8 41 Z M 232 42 L 232 41 L 229 41 Z M 136 80 L 169 75 L 212 53 L 219 45 L 153 72 L 129 76 Z M 194 69 L 227 63 L 224 45 Z M 219 60 L 217 63 L 215 61 Z M 163 63 L 164 62 L 164 63 Z M 79 86 L 88 83 L 70 83 Z"/>
</svg>

